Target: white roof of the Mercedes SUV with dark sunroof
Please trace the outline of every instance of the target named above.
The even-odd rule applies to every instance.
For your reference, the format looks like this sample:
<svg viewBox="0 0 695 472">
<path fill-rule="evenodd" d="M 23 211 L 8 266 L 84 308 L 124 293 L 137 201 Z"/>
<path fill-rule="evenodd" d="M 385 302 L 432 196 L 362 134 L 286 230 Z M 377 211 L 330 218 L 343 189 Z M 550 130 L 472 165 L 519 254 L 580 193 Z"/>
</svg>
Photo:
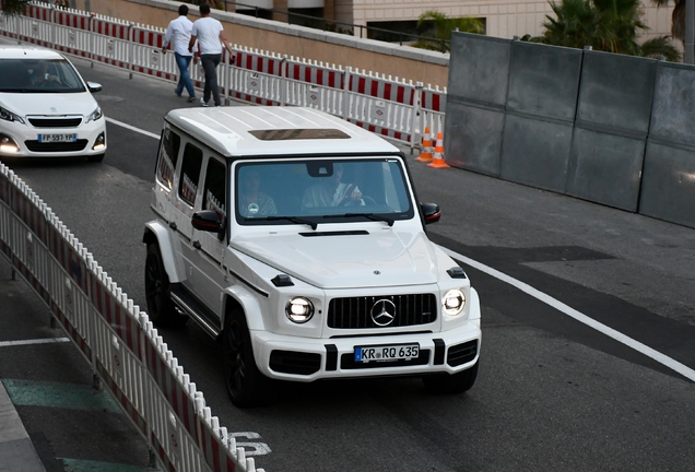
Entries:
<svg viewBox="0 0 695 472">
<path fill-rule="evenodd" d="M 165 120 L 227 157 L 399 152 L 363 128 L 308 107 L 180 108 Z"/>
</svg>

